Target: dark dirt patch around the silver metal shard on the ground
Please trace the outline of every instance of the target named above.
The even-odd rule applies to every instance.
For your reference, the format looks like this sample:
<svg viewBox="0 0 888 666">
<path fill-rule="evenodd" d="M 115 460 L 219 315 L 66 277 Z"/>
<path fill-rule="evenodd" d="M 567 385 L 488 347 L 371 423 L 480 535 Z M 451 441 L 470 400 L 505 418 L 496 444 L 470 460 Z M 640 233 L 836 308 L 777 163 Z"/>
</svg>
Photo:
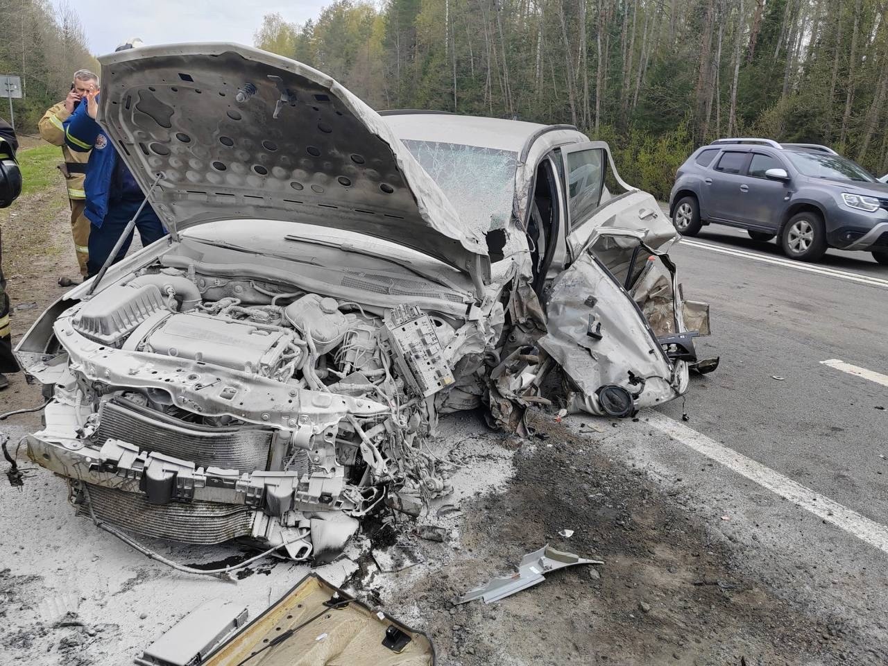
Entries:
<svg viewBox="0 0 888 666">
<path fill-rule="evenodd" d="M 872 662 L 843 622 L 809 617 L 742 573 L 742 544 L 715 543 L 643 472 L 601 455 L 594 432 L 536 420 L 545 439 L 514 442 L 505 491 L 462 504 L 458 548 L 417 541 L 428 560 L 421 575 L 363 576 L 383 588 L 386 610 L 429 633 L 440 663 Z M 564 528 L 575 530 L 570 539 L 559 537 Z M 495 604 L 454 605 L 545 543 L 605 565 L 554 572 Z"/>
</svg>

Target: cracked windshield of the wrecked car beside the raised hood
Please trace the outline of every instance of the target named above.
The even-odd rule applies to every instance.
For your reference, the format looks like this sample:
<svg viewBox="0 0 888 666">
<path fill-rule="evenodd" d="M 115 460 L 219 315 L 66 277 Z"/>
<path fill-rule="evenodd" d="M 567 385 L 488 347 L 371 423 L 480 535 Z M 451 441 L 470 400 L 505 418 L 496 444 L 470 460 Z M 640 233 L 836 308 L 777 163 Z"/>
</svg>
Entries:
<svg viewBox="0 0 888 666">
<path fill-rule="evenodd" d="M 518 153 L 443 141 L 405 139 L 403 143 L 473 231 L 487 234 L 506 226 Z"/>
</svg>

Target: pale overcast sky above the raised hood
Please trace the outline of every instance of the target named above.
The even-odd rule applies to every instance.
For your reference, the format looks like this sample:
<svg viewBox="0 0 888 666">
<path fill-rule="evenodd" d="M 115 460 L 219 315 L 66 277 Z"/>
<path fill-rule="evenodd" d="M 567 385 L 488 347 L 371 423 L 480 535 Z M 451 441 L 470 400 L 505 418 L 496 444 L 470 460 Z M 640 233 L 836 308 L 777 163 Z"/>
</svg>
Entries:
<svg viewBox="0 0 888 666">
<path fill-rule="evenodd" d="M 58 4 L 58 0 L 54 0 Z M 237 42 L 253 44 L 265 14 L 302 23 L 332 0 L 74 0 L 90 51 L 112 52 L 130 37 L 145 44 Z"/>
</svg>

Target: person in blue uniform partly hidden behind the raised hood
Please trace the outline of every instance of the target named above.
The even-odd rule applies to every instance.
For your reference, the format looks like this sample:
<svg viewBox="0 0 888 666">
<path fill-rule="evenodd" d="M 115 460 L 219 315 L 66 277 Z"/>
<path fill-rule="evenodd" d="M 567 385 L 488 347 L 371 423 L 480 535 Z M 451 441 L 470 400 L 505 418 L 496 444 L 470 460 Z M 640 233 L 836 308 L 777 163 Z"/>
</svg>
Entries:
<svg viewBox="0 0 888 666">
<path fill-rule="evenodd" d="M 116 51 L 135 48 L 140 40 L 132 39 L 121 44 Z M 62 123 L 65 129 L 65 142 L 71 150 L 79 153 L 92 151 L 86 167 L 83 189 L 86 192 L 84 215 L 91 223 L 89 241 L 89 261 L 87 269 L 90 277 L 99 273 L 106 259 L 114 250 L 115 243 L 123 234 L 123 229 L 139 210 L 145 194 L 139 188 L 105 131 L 96 123 L 99 112 L 99 90 L 86 94 L 85 104 L 80 104 L 74 114 Z M 149 245 L 166 235 L 160 218 L 150 205 L 145 206 L 136 220 L 142 245 Z M 123 242 L 112 263 L 126 256 L 132 242 L 130 237 Z"/>
</svg>

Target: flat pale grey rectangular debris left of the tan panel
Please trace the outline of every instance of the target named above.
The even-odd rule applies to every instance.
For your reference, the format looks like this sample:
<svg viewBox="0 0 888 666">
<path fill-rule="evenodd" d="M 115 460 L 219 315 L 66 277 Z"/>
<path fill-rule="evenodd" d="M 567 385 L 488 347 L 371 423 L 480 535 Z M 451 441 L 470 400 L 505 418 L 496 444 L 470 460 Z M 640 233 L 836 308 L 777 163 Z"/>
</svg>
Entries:
<svg viewBox="0 0 888 666">
<path fill-rule="evenodd" d="M 247 622 L 242 604 L 204 601 L 133 660 L 139 666 L 191 666 L 201 663 L 229 634 Z"/>
</svg>

